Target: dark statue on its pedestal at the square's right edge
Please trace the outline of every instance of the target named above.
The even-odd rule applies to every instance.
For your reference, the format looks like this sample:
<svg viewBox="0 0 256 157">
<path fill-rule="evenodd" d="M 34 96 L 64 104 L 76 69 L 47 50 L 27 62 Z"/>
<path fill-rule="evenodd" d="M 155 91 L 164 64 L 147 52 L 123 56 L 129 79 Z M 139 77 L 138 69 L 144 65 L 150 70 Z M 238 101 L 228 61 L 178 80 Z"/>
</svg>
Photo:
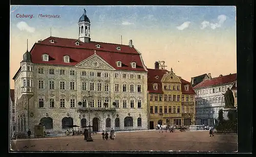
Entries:
<svg viewBox="0 0 256 157">
<path fill-rule="evenodd" d="M 233 92 L 227 88 L 224 95 L 225 98 L 225 108 L 223 109 L 223 119 L 225 120 L 236 120 L 237 119 L 237 109 L 234 107 L 234 96 Z"/>
</svg>

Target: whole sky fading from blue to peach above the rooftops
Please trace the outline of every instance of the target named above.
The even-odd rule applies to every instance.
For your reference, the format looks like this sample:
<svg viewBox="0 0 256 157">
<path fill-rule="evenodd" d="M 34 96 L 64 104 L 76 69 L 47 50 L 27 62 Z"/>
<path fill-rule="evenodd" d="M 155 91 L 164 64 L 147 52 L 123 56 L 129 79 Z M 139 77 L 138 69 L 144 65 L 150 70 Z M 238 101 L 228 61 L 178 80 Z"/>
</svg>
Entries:
<svg viewBox="0 0 256 157">
<path fill-rule="evenodd" d="M 165 61 L 167 70 L 173 68 L 188 82 L 204 73 L 218 77 L 237 72 L 235 6 L 11 6 L 11 89 L 27 39 L 28 50 L 50 35 L 78 39 L 84 8 L 92 41 L 120 44 L 122 36 L 122 44 L 129 45 L 132 39 L 147 68 Z"/>
</svg>

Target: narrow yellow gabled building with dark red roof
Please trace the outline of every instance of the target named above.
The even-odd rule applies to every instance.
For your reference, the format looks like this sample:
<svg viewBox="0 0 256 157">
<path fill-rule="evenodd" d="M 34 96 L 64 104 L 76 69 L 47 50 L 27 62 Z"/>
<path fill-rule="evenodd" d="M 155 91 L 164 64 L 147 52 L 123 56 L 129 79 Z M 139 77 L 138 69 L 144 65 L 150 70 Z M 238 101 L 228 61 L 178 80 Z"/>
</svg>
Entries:
<svg viewBox="0 0 256 157">
<path fill-rule="evenodd" d="M 154 129 L 158 124 L 164 125 L 193 125 L 195 123 L 195 92 L 191 84 L 173 69 L 147 69 L 148 80 L 148 116 L 149 128 Z"/>
</svg>

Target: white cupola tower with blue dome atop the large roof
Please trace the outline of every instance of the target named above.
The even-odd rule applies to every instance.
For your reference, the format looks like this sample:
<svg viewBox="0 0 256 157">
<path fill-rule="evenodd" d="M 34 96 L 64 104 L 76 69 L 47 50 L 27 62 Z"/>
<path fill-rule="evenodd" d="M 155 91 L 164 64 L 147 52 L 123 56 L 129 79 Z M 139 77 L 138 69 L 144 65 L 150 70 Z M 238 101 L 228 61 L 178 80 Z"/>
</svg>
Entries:
<svg viewBox="0 0 256 157">
<path fill-rule="evenodd" d="M 82 42 L 90 42 L 91 41 L 91 37 L 90 37 L 91 22 L 90 22 L 90 19 L 87 17 L 86 9 L 83 9 L 83 11 L 84 12 L 78 21 L 78 27 L 79 27 L 78 39 Z"/>
</svg>

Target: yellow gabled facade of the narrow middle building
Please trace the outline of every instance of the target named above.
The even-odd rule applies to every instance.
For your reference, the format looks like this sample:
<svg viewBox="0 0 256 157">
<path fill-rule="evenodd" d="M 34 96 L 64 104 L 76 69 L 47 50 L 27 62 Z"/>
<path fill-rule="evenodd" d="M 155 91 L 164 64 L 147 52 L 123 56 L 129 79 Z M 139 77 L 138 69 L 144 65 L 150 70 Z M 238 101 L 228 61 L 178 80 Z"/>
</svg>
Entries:
<svg viewBox="0 0 256 157">
<path fill-rule="evenodd" d="M 159 76 L 159 79 L 161 79 L 160 86 L 157 83 L 152 83 L 152 89 L 155 89 L 156 92 L 148 93 L 149 128 L 154 129 L 157 124 L 183 126 L 185 125 L 184 120 L 188 119 L 190 119 L 190 123 L 194 124 L 195 96 L 192 94 L 191 99 L 184 99 L 191 94 L 182 93 L 181 77 L 175 75 L 171 70 L 162 77 Z M 188 82 L 188 84 L 190 83 Z M 157 92 L 158 88 L 161 88 L 162 93 Z M 191 86 L 190 88 L 192 89 Z M 188 110 L 185 110 L 186 107 Z"/>
</svg>

